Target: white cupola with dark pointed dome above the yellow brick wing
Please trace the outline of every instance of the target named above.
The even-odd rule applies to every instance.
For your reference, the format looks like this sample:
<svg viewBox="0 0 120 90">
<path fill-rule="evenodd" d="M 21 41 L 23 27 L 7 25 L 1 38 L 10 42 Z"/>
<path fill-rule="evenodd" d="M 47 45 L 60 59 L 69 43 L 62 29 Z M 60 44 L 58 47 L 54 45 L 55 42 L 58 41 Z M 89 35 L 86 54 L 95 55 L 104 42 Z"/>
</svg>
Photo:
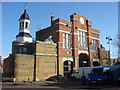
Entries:
<svg viewBox="0 0 120 90">
<path fill-rule="evenodd" d="M 16 36 L 18 42 L 32 42 L 32 36 L 30 35 L 30 18 L 26 9 L 19 19 L 19 34 Z"/>
</svg>

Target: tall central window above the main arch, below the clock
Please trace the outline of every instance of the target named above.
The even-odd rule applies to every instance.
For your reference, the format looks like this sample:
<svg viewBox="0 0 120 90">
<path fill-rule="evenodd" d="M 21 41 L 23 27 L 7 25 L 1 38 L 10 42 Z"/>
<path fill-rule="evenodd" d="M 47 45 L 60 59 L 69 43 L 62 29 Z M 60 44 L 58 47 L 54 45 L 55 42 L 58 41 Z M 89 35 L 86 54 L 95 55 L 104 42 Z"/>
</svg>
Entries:
<svg viewBox="0 0 120 90">
<path fill-rule="evenodd" d="M 80 46 L 87 46 L 87 32 L 79 31 L 78 34 L 78 43 Z"/>
</svg>

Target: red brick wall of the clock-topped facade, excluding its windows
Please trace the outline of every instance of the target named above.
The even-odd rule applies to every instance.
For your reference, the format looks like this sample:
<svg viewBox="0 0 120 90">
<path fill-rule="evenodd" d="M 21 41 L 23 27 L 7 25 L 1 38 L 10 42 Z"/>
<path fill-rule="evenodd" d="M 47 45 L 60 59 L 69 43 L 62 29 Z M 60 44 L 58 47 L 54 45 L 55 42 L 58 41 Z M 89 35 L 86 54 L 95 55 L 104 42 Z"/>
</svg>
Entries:
<svg viewBox="0 0 120 90">
<path fill-rule="evenodd" d="M 80 17 L 84 19 L 84 24 L 80 23 Z M 76 19 L 76 20 L 75 20 Z M 71 27 L 68 27 L 66 25 L 70 25 Z M 89 24 L 89 25 L 88 25 Z M 78 56 L 78 50 L 90 50 L 89 54 L 91 58 L 98 58 L 98 52 L 92 51 L 92 40 L 93 38 L 98 39 L 98 48 L 100 47 L 100 41 L 99 41 L 99 30 L 91 28 L 91 21 L 88 20 L 87 17 L 79 15 L 79 14 L 73 14 L 70 16 L 70 21 L 64 20 L 64 19 L 56 19 L 52 22 L 52 26 L 49 28 L 46 28 L 42 31 L 37 32 L 37 40 L 45 40 L 48 36 L 53 36 L 53 41 L 57 43 L 58 47 L 58 55 L 59 56 Z M 72 27 L 73 25 L 73 27 Z M 75 29 L 78 27 L 79 29 L 87 31 L 87 39 L 88 39 L 88 47 L 82 47 L 78 45 L 78 29 Z M 74 35 L 72 35 L 72 31 L 74 29 Z M 62 30 L 62 31 L 61 31 Z M 63 33 L 68 32 L 70 33 L 70 48 L 65 49 L 63 48 Z M 72 41 L 72 38 L 74 37 L 74 41 Z M 74 53 L 72 53 L 72 44 L 74 43 Z M 66 52 L 70 52 L 70 54 L 66 54 Z M 94 56 L 96 54 L 96 56 Z"/>
</svg>

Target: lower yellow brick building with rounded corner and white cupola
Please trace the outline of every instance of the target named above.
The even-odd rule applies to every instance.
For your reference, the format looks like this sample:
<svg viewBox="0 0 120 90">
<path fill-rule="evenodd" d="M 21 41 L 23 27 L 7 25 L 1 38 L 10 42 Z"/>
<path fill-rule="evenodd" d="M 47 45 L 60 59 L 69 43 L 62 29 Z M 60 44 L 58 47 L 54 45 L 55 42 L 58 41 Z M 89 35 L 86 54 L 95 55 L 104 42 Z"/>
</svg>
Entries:
<svg viewBox="0 0 120 90">
<path fill-rule="evenodd" d="M 19 33 L 12 42 L 12 54 L 4 60 L 3 78 L 39 81 L 57 76 L 57 49 L 51 38 L 32 41 L 30 17 L 26 10 L 19 19 Z"/>
</svg>

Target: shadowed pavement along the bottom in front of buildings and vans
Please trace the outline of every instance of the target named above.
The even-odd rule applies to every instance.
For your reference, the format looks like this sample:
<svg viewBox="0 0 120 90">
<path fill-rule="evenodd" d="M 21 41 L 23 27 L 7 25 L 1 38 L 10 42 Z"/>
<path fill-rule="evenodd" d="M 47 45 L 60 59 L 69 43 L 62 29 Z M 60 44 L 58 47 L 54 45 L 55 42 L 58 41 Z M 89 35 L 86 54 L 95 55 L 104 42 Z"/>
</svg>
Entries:
<svg viewBox="0 0 120 90">
<path fill-rule="evenodd" d="M 2 82 L 2 90 L 120 90 L 119 84 L 108 85 L 83 85 L 81 80 L 62 79 L 58 81 L 39 81 L 39 82 Z"/>
</svg>

